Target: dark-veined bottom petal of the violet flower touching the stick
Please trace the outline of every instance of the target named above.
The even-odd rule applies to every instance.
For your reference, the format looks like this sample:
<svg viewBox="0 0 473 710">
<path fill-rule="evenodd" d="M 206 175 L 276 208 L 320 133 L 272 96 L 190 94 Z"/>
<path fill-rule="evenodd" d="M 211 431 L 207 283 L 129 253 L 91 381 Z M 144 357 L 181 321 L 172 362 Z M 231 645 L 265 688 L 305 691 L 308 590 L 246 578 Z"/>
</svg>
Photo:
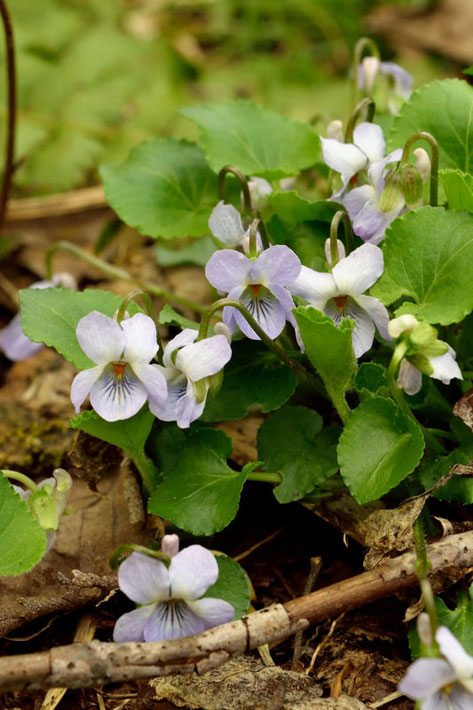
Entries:
<svg viewBox="0 0 473 710">
<path fill-rule="evenodd" d="M 145 629 L 145 641 L 167 641 L 205 631 L 205 622 L 183 601 L 156 604 Z"/>
</svg>

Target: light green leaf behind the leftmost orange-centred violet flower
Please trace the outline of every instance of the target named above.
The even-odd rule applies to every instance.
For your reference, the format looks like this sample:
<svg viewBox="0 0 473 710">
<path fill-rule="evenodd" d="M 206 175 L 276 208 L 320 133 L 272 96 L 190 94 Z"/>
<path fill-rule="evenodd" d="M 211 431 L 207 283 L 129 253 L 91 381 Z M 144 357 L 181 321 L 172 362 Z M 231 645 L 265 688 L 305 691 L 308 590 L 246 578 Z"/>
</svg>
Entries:
<svg viewBox="0 0 473 710">
<path fill-rule="evenodd" d="M 78 370 L 86 370 L 96 363 L 77 341 L 77 323 L 91 311 L 112 317 L 122 301 L 121 296 L 98 289 L 27 288 L 20 291 L 21 327 L 35 343 L 49 345 Z M 130 303 L 128 312 L 133 315 L 138 311 L 138 306 Z"/>
</svg>

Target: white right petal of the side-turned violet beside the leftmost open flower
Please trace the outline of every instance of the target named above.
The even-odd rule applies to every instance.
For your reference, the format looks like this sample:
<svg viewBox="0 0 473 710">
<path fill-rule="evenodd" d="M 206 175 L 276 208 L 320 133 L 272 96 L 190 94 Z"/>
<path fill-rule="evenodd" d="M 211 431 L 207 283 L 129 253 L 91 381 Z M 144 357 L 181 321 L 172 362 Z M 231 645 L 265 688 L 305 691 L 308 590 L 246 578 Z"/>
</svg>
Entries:
<svg viewBox="0 0 473 710">
<path fill-rule="evenodd" d="M 215 375 L 232 357 L 232 349 L 224 335 L 213 335 L 181 348 L 176 367 L 193 382 Z"/>
</svg>

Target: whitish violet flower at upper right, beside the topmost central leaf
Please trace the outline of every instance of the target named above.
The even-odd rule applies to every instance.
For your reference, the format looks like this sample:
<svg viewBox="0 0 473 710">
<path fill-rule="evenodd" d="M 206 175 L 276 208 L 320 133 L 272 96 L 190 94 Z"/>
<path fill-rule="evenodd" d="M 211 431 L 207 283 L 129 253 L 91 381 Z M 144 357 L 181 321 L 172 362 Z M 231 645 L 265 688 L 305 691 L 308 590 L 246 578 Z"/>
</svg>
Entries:
<svg viewBox="0 0 473 710">
<path fill-rule="evenodd" d="M 343 186 L 332 200 L 338 199 L 360 170 L 384 158 L 386 143 L 383 131 L 376 123 L 364 121 L 353 131 L 353 143 L 341 143 L 336 138 L 321 138 L 322 154 L 329 168 L 340 173 Z"/>
</svg>

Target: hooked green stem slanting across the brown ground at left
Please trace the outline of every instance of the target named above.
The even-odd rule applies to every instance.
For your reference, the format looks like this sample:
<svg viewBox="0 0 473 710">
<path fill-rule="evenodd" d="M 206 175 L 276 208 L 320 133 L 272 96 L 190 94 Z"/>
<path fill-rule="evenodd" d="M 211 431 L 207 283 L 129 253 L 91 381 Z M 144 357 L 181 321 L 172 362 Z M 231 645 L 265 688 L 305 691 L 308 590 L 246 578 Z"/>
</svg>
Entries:
<svg viewBox="0 0 473 710">
<path fill-rule="evenodd" d="M 137 286 L 139 289 L 147 291 L 149 294 L 151 294 L 151 296 L 156 296 L 157 298 L 164 298 L 166 299 L 166 301 L 169 301 L 169 303 L 175 303 L 179 306 L 191 308 L 197 313 L 204 313 L 207 308 L 207 306 L 204 306 L 202 303 L 197 303 L 196 301 L 191 301 L 189 298 L 178 296 L 177 294 L 172 293 L 172 291 L 167 291 L 164 288 L 160 288 L 159 286 L 156 286 L 150 281 L 137 279 L 134 276 L 131 276 L 128 271 L 125 271 L 124 269 L 121 269 L 118 266 L 112 266 L 112 264 L 109 264 L 106 261 L 99 259 L 99 257 L 94 256 L 93 254 L 89 254 L 88 252 L 84 251 L 75 244 L 72 244 L 71 242 L 57 242 L 48 249 L 46 254 L 46 269 L 48 272 L 48 278 L 51 278 L 52 276 L 52 260 L 54 254 L 57 251 L 67 251 L 70 254 L 74 254 L 80 259 L 83 259 L 83 261 L 86 261 L 91 266 L 94 266 L 96 269 L 102 271 L 102 273 L 104 273 L 109 278 L 119 279 L 120 281 L 126 281 L 127 283 L 131 283 L 134 286 Z"/>
</svg>

